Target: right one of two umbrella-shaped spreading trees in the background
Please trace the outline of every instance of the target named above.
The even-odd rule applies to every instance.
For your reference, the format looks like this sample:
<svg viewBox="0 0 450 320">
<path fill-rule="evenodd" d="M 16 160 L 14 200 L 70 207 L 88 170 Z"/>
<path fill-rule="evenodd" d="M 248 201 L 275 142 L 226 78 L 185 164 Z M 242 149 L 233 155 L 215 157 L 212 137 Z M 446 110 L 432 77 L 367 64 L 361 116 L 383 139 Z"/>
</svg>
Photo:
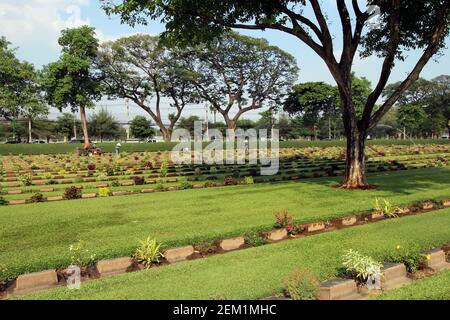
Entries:
<svg viewBox="0 0 450 320">
<path fill-rule="evenodd" d="M 227 32 L 178 57 L 192 71 L 199 95 L 235 130 L 246 112 L 279 105 L 297 78 L 294 57 L 255 39 Z"/>
</svg>

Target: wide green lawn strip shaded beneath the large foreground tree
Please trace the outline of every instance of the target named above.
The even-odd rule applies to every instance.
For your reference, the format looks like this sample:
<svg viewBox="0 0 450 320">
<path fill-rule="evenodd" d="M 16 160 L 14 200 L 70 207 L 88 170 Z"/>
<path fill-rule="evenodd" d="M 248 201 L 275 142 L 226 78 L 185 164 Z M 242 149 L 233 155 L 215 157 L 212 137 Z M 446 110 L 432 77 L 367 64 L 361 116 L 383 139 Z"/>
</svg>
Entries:
<svg viewBox="0 0 450 320">
<path fill-rule="evenodd" d="M 0 262 L 12 275 L 66 267 L 69 245 L 84 240 L 98 258 L 127 256 L 138 240 L 166 248 L 270 229 L 274 211 L 297 222 L 373 207 L 376 197 L 409 204 L 450 197 L 449 168 L 372 175 L 377 190 L 331 188 L 339 178 L 0 207 Z"/>
</svg>

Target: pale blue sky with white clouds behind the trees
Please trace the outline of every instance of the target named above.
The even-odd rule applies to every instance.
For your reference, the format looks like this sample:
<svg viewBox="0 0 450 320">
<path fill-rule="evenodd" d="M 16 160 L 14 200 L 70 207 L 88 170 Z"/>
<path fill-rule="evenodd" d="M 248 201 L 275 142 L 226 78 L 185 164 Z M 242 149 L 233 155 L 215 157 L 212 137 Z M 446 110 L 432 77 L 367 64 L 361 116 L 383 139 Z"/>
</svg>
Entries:
<svg viewBox="0 0 450 320">
<path fill-rule="evenodd" d="M 331 30 L 338 33 L 340 23 L 336 16 L 334 0 L 323 0 L 324 10 L 332 22 Z M 363 2 L 363 1 L 360 1 Z M 305 12 L 308 14 L 308 11 Z M 164 31 L 164 25 L 154 21 L 147 26 L 132 28 L 120 23 L 117 16 L 108 17 L 100 7 L 98 0 L 0 0 L 0 36 L 5 36 L 17 48 L 17 56 L 29 61 L 40 68 L 45 64 L 58 59 L 60 49 L 57 39 L 62 29 L 90 25 L 96 28 L 96 34 L 101 42 L 118 39 L 134 33 L 159 34 Z M 254 37 L 266 38 L 271 44 L 291 53 L 298 62 L 300 73 L 298 82 L 324 81 L 334 85 L 334 81 L 324 62 L 306 45 L 291 35 L 278 31 L 242 31 L 239 32 Z M 450 47 L 450 39 L 446 41 Z M 336 46 L 336 55 L 339 55 L 339 44 Z M 406 77 L 413 68 L 419 52 L 408 54 L 406 61 L 398 62 L 391 76 L 390 82 L 400 81 Z M 354 71 L 358 76 L 368 78 L 372 84 L 379 77 L 382 61 L 376 57 L 361 59 L 357 56 Z M 431 79 L 441 74 L 450 74 L 450 50 L 446 49 L 442 56 L 430 61 L 422 72 L 422 77 Z M 135 115 L 146 115 L 145 112 L 134 106 L 131 102 L 127 109 L 124 101 L 102 100 L 96 110 L 107 108 L 121 122 L 127 122 Z M 190 106 L 185 116 L 195 114 L 204 117 L 204 107 Z M 69 110 L 68 110 L 69 111 Z M 95 112 L 89 110 L 88 115 Z M 258 111 L 260 112 L 260 111 Z M 258 112 L 245 115 L 246 119 L 257 119 Z M 168 101 L 163 102 L 163 115 L 169 113 Z M 50 118 L 59 113 L 51 112 Z M 212 115 L 209 116 L 210 119 Z M 218 120 L 221 120 L 218 117 Z"/>
</svg>

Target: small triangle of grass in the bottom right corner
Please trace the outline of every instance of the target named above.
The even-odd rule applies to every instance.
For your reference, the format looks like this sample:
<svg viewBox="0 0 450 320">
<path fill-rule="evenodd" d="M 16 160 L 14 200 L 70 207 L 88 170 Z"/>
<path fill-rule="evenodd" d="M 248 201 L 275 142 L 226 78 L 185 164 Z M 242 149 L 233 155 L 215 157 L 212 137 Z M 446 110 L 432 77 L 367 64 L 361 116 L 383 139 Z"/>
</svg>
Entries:
<svg viewBox="0 0 450 320">
<path fill-rule="evenodd" d="M 414 281 L 407 287 L 386 292 L 378 300 L 450 300 L 450 270 Z"/>
</svg>

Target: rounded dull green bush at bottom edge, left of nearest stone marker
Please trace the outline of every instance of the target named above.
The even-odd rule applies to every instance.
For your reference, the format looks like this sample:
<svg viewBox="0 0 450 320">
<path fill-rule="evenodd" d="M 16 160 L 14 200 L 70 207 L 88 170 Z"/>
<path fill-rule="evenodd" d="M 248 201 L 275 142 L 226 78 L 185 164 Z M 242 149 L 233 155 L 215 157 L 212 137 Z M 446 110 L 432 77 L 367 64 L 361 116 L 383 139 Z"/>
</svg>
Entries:
<svg viewBox="0 0 450 320">
<path fill-rule="evenodd" d="M 285 280 L 287 294 L 292 300 L 317 300 L 319 281 L 309 272 L 295 270 Z"/>
</svg>

